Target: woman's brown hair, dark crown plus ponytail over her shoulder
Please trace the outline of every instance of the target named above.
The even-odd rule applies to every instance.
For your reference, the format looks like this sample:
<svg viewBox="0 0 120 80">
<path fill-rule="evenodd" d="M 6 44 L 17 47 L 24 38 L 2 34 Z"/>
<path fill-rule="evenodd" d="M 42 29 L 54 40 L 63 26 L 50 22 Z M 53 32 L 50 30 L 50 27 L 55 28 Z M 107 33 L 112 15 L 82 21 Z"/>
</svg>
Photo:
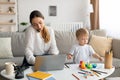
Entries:
<svg viewBox="0 0 120 80">
<path fill-rule="evenodd" d="M 40 11 L 34 10 L 30 14 L 30 23 L 31 24 L 32 24 L 32 19 L 35 17 L 40 17 L 40 18 L 44 19 L 44 16 L 42 15 L 42 13 Z M 48 32 L 48 29 L 45 26 L 43 27 L 42 37 L 43 37 L 45 43 L 48 43 L 50 41 L 50 34 Z"/>
</svg>

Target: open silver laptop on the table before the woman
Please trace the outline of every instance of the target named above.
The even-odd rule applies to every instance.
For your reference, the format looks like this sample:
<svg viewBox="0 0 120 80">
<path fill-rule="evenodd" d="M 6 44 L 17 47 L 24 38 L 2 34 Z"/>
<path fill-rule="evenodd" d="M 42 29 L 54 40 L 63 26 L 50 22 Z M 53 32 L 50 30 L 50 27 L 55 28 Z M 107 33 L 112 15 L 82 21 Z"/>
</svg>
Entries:
<svg viewBox="0 0 120 80">
<path fill-rule="evenodd" d="M 62 70 L 66 60 L 65 54 L 36 56 L 34 71 Z"/>
</svg>

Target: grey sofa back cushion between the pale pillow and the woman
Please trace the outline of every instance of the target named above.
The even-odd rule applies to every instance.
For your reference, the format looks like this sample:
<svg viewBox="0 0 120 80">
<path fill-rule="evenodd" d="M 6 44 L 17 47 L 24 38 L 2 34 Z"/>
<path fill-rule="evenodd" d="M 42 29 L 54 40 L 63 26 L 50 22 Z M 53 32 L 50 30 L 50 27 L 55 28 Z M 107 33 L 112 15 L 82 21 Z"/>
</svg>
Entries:
<svg viewBox="0 0 120 80">
<path fill-rule="evenodd" d="M 12 33 L 12 52 L 13 56 L 24 56 L 25 54 L 25 33 Z"/>
</svg>

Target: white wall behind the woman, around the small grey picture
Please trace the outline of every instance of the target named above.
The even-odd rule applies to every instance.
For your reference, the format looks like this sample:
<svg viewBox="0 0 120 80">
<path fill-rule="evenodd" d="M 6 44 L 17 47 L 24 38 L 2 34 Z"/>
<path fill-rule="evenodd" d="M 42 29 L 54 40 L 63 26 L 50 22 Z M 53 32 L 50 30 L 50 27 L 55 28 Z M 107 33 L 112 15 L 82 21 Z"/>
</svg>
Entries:
<svg viewBox="0 0 120 80">
<path fill-rule="evenodd" d="M 29 22 L 29 14 L 39 10 L 45 16 L 45 22 L 84 22 L 86 25 L 89 0 L 18 0 L 18 21 Z M 57 6 L 57 16 L 49 16 L 49 6 Z M 19 26 L 20 31 L 23 26 Z"/>
</svg>

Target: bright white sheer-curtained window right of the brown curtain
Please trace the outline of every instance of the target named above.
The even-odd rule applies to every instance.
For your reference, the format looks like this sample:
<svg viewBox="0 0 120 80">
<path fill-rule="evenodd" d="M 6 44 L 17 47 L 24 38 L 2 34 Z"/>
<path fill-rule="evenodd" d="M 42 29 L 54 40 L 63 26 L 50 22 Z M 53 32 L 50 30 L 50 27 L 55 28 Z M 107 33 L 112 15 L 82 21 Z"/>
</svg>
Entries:
<svg viewBox="0 0 120 80">
<path fill-rule="evenodd" d="M 119 0 L 99 0 L 100 29 L 106 29 L 108 36 L 120 38 Z"/>
</svg>

